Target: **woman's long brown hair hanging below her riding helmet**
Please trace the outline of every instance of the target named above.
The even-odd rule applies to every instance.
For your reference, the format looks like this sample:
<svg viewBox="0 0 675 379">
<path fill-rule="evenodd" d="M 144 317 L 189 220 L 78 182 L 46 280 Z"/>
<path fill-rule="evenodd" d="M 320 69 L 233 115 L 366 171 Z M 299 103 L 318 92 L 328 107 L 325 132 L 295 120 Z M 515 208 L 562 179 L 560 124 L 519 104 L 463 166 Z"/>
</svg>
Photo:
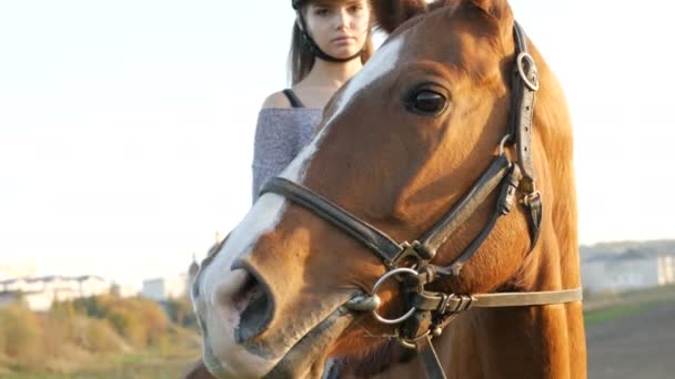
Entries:
<svg viewBox="0 0 675 379">
<path fill-rule="evenodd" d="M 300 8 L 300 12 L 304 12 L 306 10 L 306 4 L 309 1 L 302 1 L 302 6 Z M 370 1 L 369 1 L 370 3 Z M 369 32 L 369 35 L 363 45 L 363 51 L 361 52 L 361 62 L 365 63 L 371 55 L 373 54 L 373 38 L 372 33 Z M 302 30 L 298 25 L 298 22 L 293 21 L 293 35 L 291 39 L 291 51 L 289 52 L 289 74 L 291 76 L 291 84 L 294 85 L 301 80 L 303 80 L 314 66 L 315 61 L 314 54 L 310 52 L 308 45 L 304 43 L 302 38 Z"/>
</svg>

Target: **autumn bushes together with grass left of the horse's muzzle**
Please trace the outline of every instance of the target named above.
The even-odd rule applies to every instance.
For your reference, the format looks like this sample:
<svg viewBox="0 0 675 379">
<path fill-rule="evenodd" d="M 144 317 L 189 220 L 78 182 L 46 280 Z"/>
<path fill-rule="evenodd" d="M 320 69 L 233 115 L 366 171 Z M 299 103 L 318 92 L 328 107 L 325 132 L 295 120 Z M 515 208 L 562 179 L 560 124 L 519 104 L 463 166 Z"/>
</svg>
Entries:
<svg viewBox="0 0 675 379">
<path fill-rule="evenodd" d="M 164 307 L 115 295 L 0 307 L 0 378 L 180 378 L 201 338 L 187 299 Z"/>
</svg>

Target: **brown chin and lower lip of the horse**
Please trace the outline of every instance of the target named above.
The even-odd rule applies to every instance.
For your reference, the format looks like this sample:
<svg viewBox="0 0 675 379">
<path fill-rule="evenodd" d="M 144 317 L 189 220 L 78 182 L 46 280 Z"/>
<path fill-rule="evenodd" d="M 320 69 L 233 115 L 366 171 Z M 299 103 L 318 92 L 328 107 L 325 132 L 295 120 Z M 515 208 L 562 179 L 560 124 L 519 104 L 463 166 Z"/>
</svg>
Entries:
<svg viewBox="0 0 675 379">
<path fill-rule="evenodd" d="M 293 345 L 264 378 L 325 378 L 330 348 L 353 319 L 353 314 L 339 308 Z"/>
</svg>

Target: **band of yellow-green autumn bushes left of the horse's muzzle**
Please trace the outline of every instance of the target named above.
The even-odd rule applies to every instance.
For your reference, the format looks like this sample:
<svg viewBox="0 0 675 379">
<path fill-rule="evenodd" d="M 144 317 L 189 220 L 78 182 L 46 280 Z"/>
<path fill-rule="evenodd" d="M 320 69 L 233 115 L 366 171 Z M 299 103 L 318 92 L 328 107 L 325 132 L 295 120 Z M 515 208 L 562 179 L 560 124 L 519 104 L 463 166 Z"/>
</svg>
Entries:
<svg viewBox="0 0 675 379">
<path fill-rule="evenodd" d="M 171 355 L 177 338 L 197 335 L 193 326 L 188 299 L 160 305 L 104 295 L 54 303 L 46 314 L 22 304 L 4 306 L 0 307 L 0 369 L 58 370 L 49 366 L 147 348 Z"/>
</svg>

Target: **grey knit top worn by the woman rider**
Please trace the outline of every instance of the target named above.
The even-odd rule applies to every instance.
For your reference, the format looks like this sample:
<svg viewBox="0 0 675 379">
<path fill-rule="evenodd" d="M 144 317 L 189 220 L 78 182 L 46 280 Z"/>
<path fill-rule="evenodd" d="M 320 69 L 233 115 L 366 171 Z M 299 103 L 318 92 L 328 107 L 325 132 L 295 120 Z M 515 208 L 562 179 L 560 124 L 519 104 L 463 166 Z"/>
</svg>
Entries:
<svg viewBox="0 0 675 379">
<path fill-rule="evenodd" d="M 253 146 L 253 203 L 260 187 L 279 175 L 314 135 L 322 110 L 266 107 L 258 114 Z"/>
</svg>

